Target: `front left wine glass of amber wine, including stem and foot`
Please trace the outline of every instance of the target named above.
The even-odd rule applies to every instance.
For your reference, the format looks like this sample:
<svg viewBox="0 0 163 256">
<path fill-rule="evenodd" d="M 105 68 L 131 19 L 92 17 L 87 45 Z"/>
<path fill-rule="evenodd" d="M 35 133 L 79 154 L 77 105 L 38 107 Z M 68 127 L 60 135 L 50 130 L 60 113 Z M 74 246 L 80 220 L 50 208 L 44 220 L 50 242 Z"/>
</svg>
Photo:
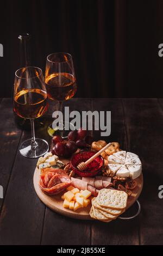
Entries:
<svg viewBox="0 0 163 256">
<path fill-rule="evenodd" d="M 49 146 L 44 139 L 35 138 L 34 119 L 41 117 L 48 108 L 48 98 L 42 70 L 34 66 L 15 72 L 14 111 L 22 118 L 30 119 L 32 139 L 20 146 L 23 156 L 36 158 L 47 153 Z"/>
</svg>

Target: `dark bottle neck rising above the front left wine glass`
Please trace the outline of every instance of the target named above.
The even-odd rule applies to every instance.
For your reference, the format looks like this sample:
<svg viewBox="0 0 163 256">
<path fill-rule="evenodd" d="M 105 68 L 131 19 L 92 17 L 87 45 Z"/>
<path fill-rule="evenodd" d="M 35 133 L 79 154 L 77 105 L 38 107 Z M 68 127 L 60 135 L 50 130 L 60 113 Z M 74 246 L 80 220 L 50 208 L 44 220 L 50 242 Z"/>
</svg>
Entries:
<svg viewBox="0 0 163 256">
<path fill-rule="evenodd" d="M 29 34 L 21 34 L 18 36 L 20 40 L 20 66 L 30 66 L 30 38 Z"/>
</svg>

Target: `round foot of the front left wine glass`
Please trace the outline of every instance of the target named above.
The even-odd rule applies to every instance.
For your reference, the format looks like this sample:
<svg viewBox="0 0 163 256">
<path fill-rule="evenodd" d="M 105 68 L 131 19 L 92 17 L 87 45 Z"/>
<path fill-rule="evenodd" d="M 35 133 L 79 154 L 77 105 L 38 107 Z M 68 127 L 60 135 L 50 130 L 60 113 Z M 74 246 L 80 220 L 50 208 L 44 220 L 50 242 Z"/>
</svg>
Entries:
<svg viewBox="0 0 163 256">
<path fill-rule="evenodd" d="M 20 154 L 29 158 L 37 158 L 45 155 L 49 150 L 49 145 L 44 139 L 35 139 L 36 147 L 31 146 L 31 139 L 22 142 L 20 145 Z"/>
</svg>

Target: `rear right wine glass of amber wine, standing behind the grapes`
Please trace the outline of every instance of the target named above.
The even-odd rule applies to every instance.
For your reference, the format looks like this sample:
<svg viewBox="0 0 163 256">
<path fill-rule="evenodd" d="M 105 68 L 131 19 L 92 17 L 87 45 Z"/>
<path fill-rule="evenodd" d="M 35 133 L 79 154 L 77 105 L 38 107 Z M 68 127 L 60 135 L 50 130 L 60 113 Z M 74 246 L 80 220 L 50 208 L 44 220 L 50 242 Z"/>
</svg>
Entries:
<svg viewBox="0 0 163 256">
<path fill-rule="evenodd" d="M 73 67 L 72 56 L 69 53 L 57 52 L 48 55 L 45 71 L 45 84 L 49 99 L 59 101 L 59 111 L 62 109 L 62 102 L 71 99 L 77 91 L 76 75 Z M 64 122 L 62 120 L 62 125 Z M 71 130 L 73 124 L 69 123 Z M 48 127 L 48 133 L 53 137 L 57 128 Z M 60 129 L 57 133 L 66 138 L 66 133 Z"/>
</svg>

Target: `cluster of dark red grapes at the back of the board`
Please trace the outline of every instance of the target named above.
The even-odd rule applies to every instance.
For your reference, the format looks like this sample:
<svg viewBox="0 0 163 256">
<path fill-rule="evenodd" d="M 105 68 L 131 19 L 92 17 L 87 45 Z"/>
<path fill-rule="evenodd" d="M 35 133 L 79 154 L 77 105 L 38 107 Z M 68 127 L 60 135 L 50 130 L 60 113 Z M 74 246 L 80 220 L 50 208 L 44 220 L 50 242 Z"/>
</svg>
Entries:
<svg viewBox="0 0 163 256">
<path fill-rule="evenodd" d="M 54 145 L 52 149 L 53 155 L 70 157 L 78 148 L 86 148 L 87 144 L 91 144 L 92 137 L 87 136 L 87 131 L 80 128 L 78 131 L 70 131 L 68 133 L 68 139 L 65 141 L 60 136 L 54 136 L 52 143 Z"/>
</svg>

